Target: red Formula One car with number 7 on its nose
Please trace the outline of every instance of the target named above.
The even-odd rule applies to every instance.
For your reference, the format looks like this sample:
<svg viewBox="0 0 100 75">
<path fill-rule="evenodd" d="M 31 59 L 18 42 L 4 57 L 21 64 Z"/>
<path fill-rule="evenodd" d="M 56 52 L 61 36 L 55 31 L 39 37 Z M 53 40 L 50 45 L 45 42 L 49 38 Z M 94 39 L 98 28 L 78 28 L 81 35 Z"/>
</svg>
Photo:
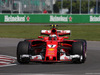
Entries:
<svg viewBox="0 0 100 75">
<path fill-rule="evenodd" d="M 20 41 L 17 46 L 17 61 L 26 64 L 30 61 L 84 63 L 86 61 L 87 42 L 83 39 L 68 40 L 70 30 L 41 30 L 39 39 Z M 60 37 L 64 36 L 64 37 Z"/>
</svg>

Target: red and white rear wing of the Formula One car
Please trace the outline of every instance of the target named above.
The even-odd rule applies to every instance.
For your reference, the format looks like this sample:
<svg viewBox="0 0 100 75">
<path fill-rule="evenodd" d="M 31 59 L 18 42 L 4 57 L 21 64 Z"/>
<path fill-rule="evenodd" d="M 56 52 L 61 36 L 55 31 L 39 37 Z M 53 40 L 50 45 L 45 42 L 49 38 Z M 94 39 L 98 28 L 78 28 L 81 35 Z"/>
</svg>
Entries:
<svg viewBox="0 0 100 75">
<path fill-rule="evenodd" d="M 50 35 L 51 30 L 41 30 L 41 35 Z M 57 30 L 57 35 L 64 36 L 64 35 L 70 35 L 70 30 Z"/>
</svg>

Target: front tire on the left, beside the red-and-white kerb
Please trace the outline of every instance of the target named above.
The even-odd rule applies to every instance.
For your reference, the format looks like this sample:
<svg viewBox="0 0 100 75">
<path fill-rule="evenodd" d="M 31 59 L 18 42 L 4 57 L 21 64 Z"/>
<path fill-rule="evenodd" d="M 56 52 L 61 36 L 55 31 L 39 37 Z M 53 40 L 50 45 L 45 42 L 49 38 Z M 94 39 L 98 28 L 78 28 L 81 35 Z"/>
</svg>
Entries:
<svg viewBox="0 0 100 75">
<path fill-rule="evenodd" d="M 17 46 L 17 61 L 20 64 L 28 64 L 30 61 L 30 58 L 21 58 L 21 55 L 29 53 L 29 42 L 27 41 L 20 41 Z"/>
</svg>

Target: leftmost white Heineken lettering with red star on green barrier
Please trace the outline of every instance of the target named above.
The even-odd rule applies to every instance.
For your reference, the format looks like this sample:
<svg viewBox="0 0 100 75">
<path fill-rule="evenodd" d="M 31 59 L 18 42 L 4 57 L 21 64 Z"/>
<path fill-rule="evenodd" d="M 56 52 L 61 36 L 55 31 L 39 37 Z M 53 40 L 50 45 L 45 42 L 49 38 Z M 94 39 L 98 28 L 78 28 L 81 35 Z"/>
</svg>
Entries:
<svg viewBox="0 0 100 75">
<path fill-rule="evenodd" d="M 26 22 L 26 21 L 30 21 L 29 16 L 19 16 L 19 15 L 4 16 L 4 22 Z"/>
</svg>

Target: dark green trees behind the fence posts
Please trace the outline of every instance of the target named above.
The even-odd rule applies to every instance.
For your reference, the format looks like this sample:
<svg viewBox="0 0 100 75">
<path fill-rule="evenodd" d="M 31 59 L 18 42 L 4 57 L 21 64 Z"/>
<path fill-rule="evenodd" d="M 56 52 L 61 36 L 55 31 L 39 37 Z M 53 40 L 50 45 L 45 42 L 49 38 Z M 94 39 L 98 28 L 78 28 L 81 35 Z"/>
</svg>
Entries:
<svg viewBox="0 0 100 75">
<path fill-rule="evenodd" d="M 88 13 L 88 0 L 81 0 L 81 12 Z M 68 8 L 70 10 L 71 0 L 63 0 L 63 8 Z M 61 1 L 56 1 L 56 6 L 61 9 Z M 90 0 L 90 8 L 95 8 L 96 1 Z M 73 0 L 72 2 L 72 13 L 79 13 L 80 10 L 80 0 Z"/>
</svg>

